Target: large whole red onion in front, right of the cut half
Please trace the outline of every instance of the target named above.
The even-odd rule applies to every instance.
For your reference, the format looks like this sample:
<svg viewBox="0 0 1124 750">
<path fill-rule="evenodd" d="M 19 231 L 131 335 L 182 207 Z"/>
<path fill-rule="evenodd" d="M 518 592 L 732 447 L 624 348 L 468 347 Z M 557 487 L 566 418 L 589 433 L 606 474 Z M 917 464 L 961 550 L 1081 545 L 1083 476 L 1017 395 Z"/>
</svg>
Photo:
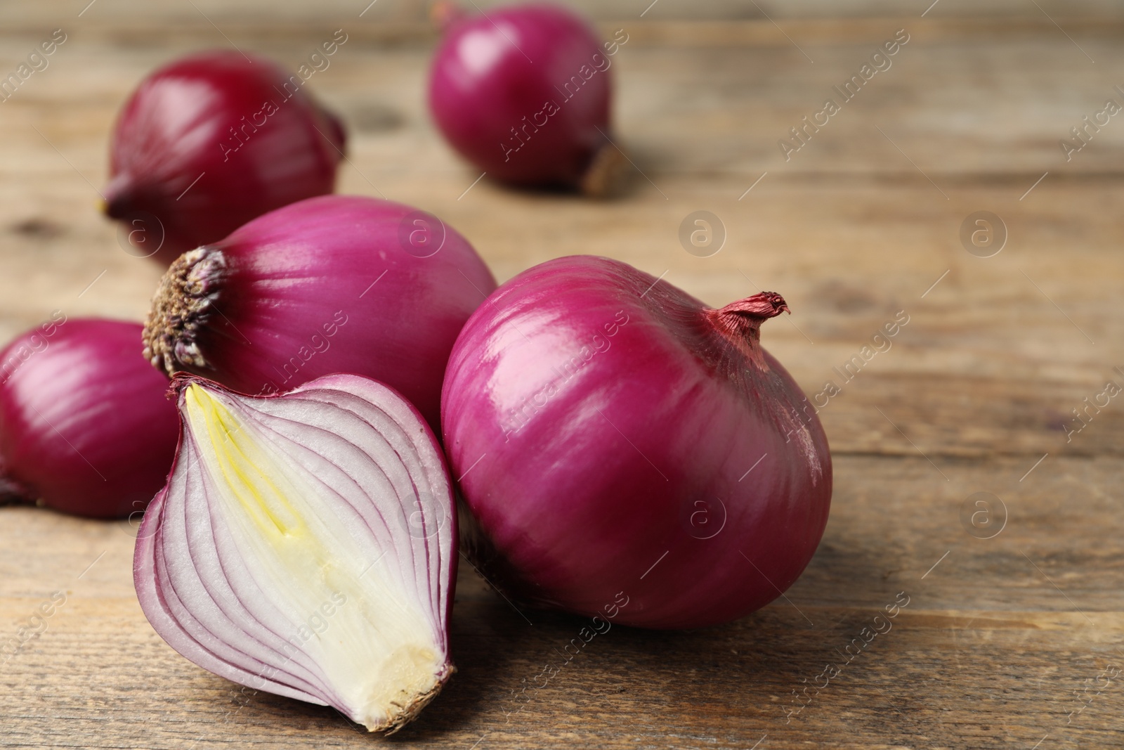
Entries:
<svg viewBox="0 0 1124 750">
<path fill-rule="evenodd" d="M 762 292 L 714 310 L 572 256 L 481 306 L 450 359 L 442 426 L 471 516 L 462 544 L 488 580 L 543 607 L 690 629 L 797 579 L 827 522 L 831 455 L 756 341 L 763 317 L 733 309 L 762 299 L 780 300 L 764 317 L 787 309 Z"/>
</svg>

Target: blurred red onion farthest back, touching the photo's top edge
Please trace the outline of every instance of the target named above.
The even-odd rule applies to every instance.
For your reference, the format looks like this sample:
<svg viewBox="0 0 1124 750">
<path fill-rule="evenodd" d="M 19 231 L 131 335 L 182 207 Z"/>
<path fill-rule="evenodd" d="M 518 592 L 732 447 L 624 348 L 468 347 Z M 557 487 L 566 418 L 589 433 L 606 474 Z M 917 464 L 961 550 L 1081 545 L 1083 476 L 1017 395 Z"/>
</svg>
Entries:
<svg viewBox="0 0 1124 750">
<path fill-rule="evenodd" d="M 588 80 L 580 73 L 582 66 L 596 69 L 595 55 L 608 60 L 593 30 L 556 6 L 511 6 L 462 18 L 434 57 L 429 109 L 450 144 L 489 177 L 573 188 L 606 144 L 601 132 L 610 133 L 611 67 Z M 580 88 L 564 88 L 571 76 Z M 536 127 L 546 102 L 558 111 L 540 116 Z M 525 145 L 507 154 L 505 145 L 520 143 L 513 128 Z"/>
</svg>

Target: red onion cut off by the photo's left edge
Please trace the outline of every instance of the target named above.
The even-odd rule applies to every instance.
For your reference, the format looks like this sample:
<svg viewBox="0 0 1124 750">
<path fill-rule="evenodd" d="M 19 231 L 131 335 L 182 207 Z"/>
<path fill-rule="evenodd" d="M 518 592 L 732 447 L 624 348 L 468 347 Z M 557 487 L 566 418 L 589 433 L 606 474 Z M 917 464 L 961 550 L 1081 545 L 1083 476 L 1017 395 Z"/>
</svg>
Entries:
<svg viewBox="0 0 1124 750">
<path fill-rule="evenodd" d="M 138 513 L 175 453 L 167 379 L 140 355 L 140 325 L 66 319 L 0 352 L 0 495 L 90 518 Z"/>
</svg>

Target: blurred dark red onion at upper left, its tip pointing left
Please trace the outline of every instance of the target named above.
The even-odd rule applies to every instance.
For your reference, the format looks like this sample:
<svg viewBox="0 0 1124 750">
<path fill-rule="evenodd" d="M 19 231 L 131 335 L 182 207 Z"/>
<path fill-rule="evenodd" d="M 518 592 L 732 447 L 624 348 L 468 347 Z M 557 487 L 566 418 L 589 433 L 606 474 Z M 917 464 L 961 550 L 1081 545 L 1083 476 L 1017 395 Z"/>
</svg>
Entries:
<svg viewBox="0 0 1124 750">
<path fill-rule="evenodd" d="M 266 211 L 332 192 L 344 147 L 343 124 L 300 76 L 235 51 L 199 53 L 152 73 L 125 103 L 105 210 L 143 233 L 138 250 L 162 240 L 153 257 L 166 264 Z"/>
</svg>

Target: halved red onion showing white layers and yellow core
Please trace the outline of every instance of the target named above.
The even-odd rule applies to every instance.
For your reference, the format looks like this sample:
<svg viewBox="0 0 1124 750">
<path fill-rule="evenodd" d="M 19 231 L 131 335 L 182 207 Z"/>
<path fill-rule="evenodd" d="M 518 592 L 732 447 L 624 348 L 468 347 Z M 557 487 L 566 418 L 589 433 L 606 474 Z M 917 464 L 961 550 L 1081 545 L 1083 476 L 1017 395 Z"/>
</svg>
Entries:
<svg viewBox="0 0 1124 750">
<path fill-rule="evenodd" d="M 433 433 L 357 376 L 261 398 L 174 387 L 180 446 L 134 558 L 148 622 L 216 675 L 396 732 L 453 671 L 456 527 Z"/>
</svg>

